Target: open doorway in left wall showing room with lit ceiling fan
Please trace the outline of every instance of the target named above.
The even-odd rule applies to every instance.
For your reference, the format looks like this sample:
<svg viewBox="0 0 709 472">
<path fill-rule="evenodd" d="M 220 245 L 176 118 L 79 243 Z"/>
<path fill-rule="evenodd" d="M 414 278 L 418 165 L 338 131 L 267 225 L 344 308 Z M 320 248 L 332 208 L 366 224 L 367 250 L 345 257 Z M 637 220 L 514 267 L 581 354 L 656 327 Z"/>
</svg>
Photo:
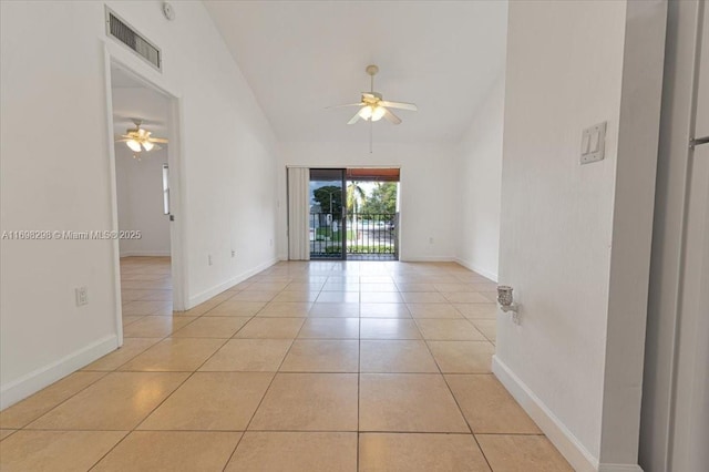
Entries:
<svg viewBox="0 0 709 472">
<path fill-rule="evenodd" d="M 119 338 L 145 317 L 183 310 L 174 95 L 110 62 L 110 124 Z M 176 240 L 177 239 L 177 240 Z M 167 321 L 167 318 L 161 318 Z M 153 322 L 155 319 L 153 319 Z M 133 326 L 133 328 L 132 328 Z"/>
</svg>

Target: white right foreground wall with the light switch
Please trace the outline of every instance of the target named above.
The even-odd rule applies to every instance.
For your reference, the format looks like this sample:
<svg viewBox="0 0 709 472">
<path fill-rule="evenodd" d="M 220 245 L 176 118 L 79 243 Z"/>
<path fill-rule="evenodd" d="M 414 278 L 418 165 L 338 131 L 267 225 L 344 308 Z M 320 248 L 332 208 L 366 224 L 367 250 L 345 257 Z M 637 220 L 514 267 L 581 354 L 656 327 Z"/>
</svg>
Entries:
<svg viewBox="0 0 709 472">
<path fill-rule="evenodd" d="M 494 371 L 577 470 L 637 470 L 665 13 L 510 3 L 500 281 L 522 311 Z M 606 158 L 580 166 L 603 121 Z"/>
</svg>

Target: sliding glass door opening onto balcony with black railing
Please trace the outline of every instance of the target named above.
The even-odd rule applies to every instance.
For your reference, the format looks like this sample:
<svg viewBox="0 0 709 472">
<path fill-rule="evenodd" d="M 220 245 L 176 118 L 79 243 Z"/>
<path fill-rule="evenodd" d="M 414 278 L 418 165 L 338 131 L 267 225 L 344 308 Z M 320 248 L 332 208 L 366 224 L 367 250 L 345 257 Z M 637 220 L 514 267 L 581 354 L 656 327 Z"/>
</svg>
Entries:
<svg viewBox="0 0 709 472">
<path fill-rule="evenodd" d="M 399 168 L 311 168 L 311 259 L 399 259 Z"/>
</svg>

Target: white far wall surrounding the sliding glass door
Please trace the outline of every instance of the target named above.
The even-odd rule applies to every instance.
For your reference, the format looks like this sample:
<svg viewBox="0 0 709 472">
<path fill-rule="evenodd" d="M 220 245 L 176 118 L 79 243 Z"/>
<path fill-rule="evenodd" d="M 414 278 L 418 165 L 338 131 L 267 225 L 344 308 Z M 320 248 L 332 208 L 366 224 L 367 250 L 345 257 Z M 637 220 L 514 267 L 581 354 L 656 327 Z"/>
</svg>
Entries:
<svg viewBox="0 0 709 472">
<path fill-rule="evenodd" d="M 362 124 L 363 125 L 363 124 Z M 389 123 L 377 125 L 389 126 Z M 287 258 L 286 166 L 401 167 L 401 260 L 453 260 L 458 242 L 460 198 L 456 194 L 454 147 L 445 144 L 284 143 L 279 172 L 279 254 Z M 433 238 L 433 243 L 430 239 Z"/>
</svg>

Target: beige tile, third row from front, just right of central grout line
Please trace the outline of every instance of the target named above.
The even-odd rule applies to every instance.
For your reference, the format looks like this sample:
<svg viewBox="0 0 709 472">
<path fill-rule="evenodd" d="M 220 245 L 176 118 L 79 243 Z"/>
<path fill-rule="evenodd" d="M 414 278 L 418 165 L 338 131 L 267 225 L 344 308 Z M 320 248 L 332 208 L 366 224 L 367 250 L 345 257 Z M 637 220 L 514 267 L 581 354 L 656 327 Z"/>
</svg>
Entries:
<svg viewBox="0 0 709 472">
<path fill-rule="evenodd" d="M 360 341 L 362 372 L 438 373 L 439 368 L 423 341 Z"/>
</svg>

